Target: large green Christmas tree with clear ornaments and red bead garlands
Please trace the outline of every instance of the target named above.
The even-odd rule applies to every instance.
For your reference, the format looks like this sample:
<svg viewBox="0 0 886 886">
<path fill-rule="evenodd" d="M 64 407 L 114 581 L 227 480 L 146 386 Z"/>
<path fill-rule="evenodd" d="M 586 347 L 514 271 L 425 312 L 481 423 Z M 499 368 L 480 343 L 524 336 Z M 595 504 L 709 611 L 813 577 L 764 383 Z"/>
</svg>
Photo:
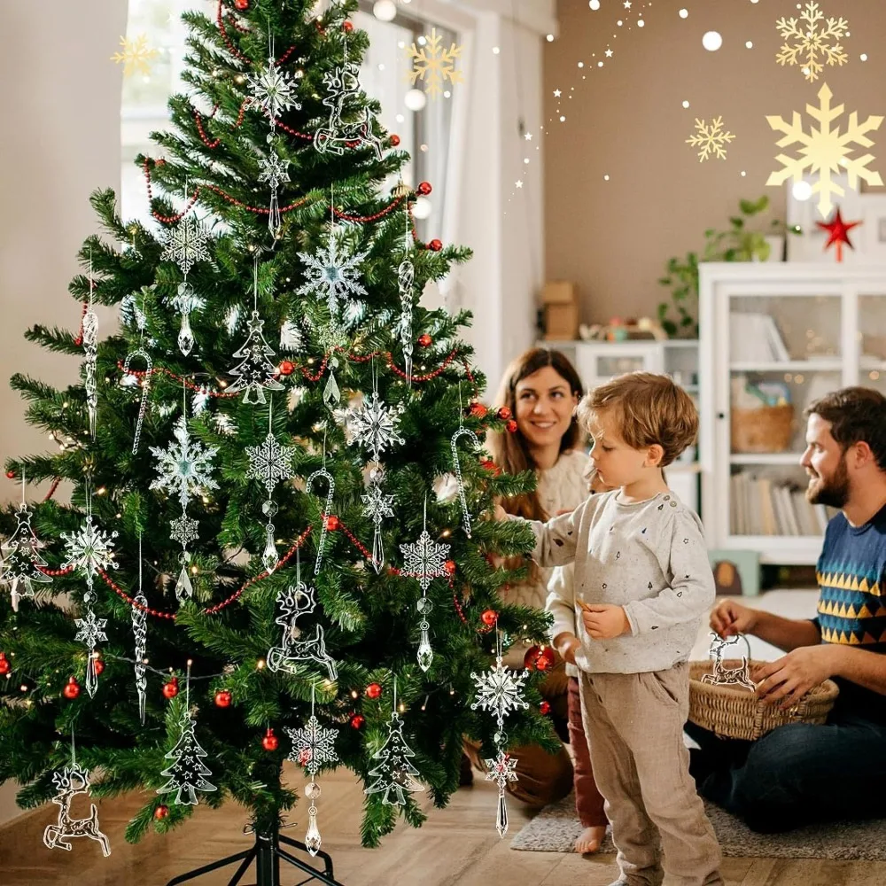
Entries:
<svg viewBox="0 0 886 886">
<path fill-rule="evenodd" d="M 517 573 L 493 555 L 527 551 L 529 533 L 479 519 L 532 483 L 472 446 L 510 416 L 479 402 L 458 337 L 469 315 L 420 304 L 469 251 L 417 237 L 429 184 L 385 185 L 408 155 L 361 91 L 356 0 L 313 6 L 185 15 L 191 94 L 170 100 L 158 158 L 137 159 L 156 224 L 122 220 L 98 191 L 107 237 L 85 242 L 70 286 L 80 330 L 27 331 L 82 359 L 82 380 L 12 378 L 58 451 L 6 464 L 51 481 L 30 522 L 43 558 L 19 543 L 7 580 L 52 581 L 18 611 L 0 597 L 0 781 L 22 785 L 24 806 L 51 798 L 73 732 L 93 796 L 152 797 L 133 841 L 182 823 L 191 799 L 233 799 L 275 835 L 298 799 L 276 735 L 312 712 L 335 732 L 324 768 L 369 789 L 363 843 L 398 812 L 419 825 L 415 797 L 386 804 L 377 787 L 394 681 L 408 772 L 445 805 L 462 735 L 490 757 L 502 739 L 470 707 L 471 672 L 497 634 L 538 642 L 547 627 L 498 602 Z M 119 333 L 97 328 L 99 304 L 120 308 Z M 439 500 L 447 475 L 461 492 Z M 508 741 L 554 749 L 536 681 Z M 191 782 L 196 796 L 157 793 Z"/>
</svg>

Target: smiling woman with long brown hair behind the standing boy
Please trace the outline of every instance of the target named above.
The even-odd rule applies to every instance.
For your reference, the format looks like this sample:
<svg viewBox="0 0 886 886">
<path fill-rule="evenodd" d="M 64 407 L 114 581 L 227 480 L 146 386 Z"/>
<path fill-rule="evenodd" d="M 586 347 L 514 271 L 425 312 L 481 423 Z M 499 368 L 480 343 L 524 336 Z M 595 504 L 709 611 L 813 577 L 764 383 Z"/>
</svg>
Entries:
<svg viewBox="0 0 886 886">
<path fill-rule="evenodd" d="M 510 409 L 517 431 L 490 434 L 488 445 L 502 470 L 510 474 L 535 470 L 539 478 L 534 492 L 502 502 L 509 513 L 547 520 L 571 511 L 586 498 L 590 462 L 580 447 L 579 425 L 572 417 L 581 394 L 579 374 L 559 351 L 531 348 L 506 370 L 495 404 Z M 571 581 L 572 567 L 553 570 L 542 569 L 535 563 L 528 566 L 528 578 L 502 590 L 502 601 L 543 610 L 548 581 Z M 522 668 L 525 652 L 525 646 L 515 644 L 509 649 L 505 663 Z M 581 727 L 578 680 L 567 674 L 565 663 L 559 657 L 542 684 L 541 694 L 550 704 L 558 734 L 564 736 L 563 727 L 568 723 L 575 759 L 576 811 L 585 828 L 576 840 L 576 851 L 594 852 L 600 848 L 606 831 L 603 800 L 596 789 Z M 470 762 L 482 771 L 479 746 L 466 742 L 465 750 Z M 517 781 L 509 782 L 508 789 L 518 799 L 543 806 L 569 793 L 573 770 L 565 748 L 551 755 L 538 746 L 527 746 L 512 749 L 509 754 L 517 758 Z"/>
</svg>

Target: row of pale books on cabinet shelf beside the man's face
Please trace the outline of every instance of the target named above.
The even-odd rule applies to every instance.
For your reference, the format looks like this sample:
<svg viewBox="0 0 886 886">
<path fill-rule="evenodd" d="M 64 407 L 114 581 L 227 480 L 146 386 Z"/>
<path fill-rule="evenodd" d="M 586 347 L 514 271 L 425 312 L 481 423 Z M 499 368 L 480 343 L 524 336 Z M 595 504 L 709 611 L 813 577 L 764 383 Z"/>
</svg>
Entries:
<svg viewBox="0 0 886 886">
<path fill-rule="evenodd" d="M 804 489 L 790 480 L 757 477 L 752 471 L 729 480 L 732 535 L 809 537 L 823 535 L 835 510 L 806 501 Z"/>
</svg>

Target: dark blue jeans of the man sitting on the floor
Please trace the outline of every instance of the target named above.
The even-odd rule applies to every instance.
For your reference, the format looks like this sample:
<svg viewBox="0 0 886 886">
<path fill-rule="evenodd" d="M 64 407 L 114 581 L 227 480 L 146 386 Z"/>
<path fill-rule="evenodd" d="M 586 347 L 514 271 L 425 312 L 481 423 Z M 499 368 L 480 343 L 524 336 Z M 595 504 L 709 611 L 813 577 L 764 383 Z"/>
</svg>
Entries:
<svg viewBox="0 0 886 886">
<path fill-rule="evenodd" d="M 690 751 L 698 792 L 753 830 L 886 817 L 886 724 L 839 703 L 824 726 L 792 723 L 757 742 L 686 732 L 701 748 Z"/>
</svg>

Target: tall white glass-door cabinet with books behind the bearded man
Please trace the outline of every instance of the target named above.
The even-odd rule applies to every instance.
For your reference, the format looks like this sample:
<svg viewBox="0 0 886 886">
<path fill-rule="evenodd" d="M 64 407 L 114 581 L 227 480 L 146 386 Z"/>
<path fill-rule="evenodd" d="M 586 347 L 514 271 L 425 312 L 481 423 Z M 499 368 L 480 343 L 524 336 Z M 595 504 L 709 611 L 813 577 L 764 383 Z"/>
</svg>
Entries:
<svg viewBox="0 0 886 886">
<path fill-rule="evenodd" d="M 736 330 L 753 330 L 755 321 L 737 314 L 771 316 L 780 339 L 773 350 L 787 359 L 769 359 L 772 354 L 758 344 L 765 332 L 740 336 Z M 766 323 L 771 325 L 760 321 L 757 328 Z M 813 564 L 827 515 L 802 496 L 803 410 L 848 385 L 886 393 L 886 268 L 703 264 L 699 326 L 699 462 L 708 545 L 755 551 L 761 563 Z M 766 359 L 755 360 L 755 354 Z M 787 387 L 794 406 L 788 451 L 732 451 L 734 380 L 737 386 Z"/>
</svg>

